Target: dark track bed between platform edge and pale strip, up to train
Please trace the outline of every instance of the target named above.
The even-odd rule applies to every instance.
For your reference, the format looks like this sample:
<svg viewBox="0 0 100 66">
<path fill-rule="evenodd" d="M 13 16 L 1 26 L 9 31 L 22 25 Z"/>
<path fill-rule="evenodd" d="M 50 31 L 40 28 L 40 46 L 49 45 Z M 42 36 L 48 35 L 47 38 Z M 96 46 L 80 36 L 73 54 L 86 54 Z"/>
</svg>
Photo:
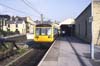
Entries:
<svg viewBox="0 0 100 66">
<path fill-rule="evenodd" d="M 36 45 L 36 47 L 35 47 Z M 50 48 L 51 44 L 33 44 L 33 52 L 32 56 L 25 62 L 23 62 L 21 65 L 16 66 L 37 66 L 38 63 L 41 61 L 47 50 Z"/>
</svg>

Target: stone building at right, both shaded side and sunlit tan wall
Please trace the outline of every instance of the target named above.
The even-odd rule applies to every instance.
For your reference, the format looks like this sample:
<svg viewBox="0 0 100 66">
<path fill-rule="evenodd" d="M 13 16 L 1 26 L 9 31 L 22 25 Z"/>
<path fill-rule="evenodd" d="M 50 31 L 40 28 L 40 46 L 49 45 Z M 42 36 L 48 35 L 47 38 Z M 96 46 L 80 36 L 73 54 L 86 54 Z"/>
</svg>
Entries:
<svg viewBox="0 0 100 66">
<path fill-rule="evenodd" d="M 100 45 L 100 1 L 93 1 L 93 9 L 91 3 L 87 8 L 75 19 L 75 34 L 78 38 L 91 43 L 91 26 L 90 17 L 93 13 L 93 43 Z M 93 10 L 93 11 L 92 11 Z"/>
</svg>

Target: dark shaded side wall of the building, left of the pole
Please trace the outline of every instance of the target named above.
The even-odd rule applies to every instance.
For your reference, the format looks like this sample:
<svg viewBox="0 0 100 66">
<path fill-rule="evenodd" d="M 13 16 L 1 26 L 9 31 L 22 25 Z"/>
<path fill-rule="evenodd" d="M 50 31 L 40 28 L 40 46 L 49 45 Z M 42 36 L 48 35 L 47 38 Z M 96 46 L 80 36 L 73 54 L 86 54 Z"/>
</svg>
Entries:
<svg viewBox="0 0 100 66">
<path fill-rule="evenodd" d="M 75 19 L 76 36 L 86 42 L 91 42 L 91 4 Z"/>
</svg>

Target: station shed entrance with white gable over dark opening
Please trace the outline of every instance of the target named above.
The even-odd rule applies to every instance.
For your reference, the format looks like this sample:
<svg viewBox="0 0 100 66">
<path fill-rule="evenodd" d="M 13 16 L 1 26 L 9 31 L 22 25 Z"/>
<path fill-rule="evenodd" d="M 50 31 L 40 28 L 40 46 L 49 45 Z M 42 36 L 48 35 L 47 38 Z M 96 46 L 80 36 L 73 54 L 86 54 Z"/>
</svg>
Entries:
<svg viewBox="0 0 100 66">
<path fill-rule="evenodd" d="M 62 36 L 72 36 L 75 31 L 75 20 L 73 18 L 66 19 L 59 23 L 59 28 Z"/>
</svg>

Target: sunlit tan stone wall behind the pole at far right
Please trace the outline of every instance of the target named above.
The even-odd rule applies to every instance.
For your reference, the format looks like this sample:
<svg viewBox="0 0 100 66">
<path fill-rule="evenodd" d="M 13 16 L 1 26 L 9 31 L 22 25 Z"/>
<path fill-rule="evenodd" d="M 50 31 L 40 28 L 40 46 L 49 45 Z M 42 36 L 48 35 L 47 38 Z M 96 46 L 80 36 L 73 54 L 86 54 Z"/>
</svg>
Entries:
<svg viewBox="0 0 100 66">
<path fill-rule="evenodd" d="M 100 0 L 93 2 L 93 42 L 100 45 Z"/>
</svg>

